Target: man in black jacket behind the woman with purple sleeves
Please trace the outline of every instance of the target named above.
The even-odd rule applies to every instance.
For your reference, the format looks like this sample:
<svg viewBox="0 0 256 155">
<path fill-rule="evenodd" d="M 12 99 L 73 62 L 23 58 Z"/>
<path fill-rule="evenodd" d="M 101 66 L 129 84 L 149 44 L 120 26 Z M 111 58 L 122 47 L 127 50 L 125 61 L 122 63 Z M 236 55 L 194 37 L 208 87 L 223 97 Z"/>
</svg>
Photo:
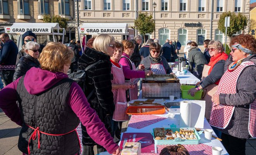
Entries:
<svg viewBox="0 0 256 155">
<path fill-rule="evenodd" d="M 135 40 L 135 48 L 133 50 L 133 53 L 131 55 L 131 61 L 134 62 L 136 68 L 138 67 L 138 65 L 140 65 L 140 61 L 141 61 L 141 56 L 140 56 L 140 50 L 138 48 L 138 46 L 142 43 L 142 38 L 140 35 L 137 35 L 134 37 Z"/>
</svg>

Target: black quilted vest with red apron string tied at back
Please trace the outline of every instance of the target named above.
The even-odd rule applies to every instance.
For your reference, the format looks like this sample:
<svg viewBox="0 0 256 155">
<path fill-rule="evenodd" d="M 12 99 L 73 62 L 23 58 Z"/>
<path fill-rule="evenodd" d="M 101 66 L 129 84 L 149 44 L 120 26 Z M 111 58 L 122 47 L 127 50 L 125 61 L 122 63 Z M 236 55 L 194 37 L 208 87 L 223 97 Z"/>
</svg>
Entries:
<svg viewBox="0 0 256 155">
<path fill-rule="evenodd" d="M 51 89 L 37 95 L 28 93 L 24 86 L 24 76 L 17 85 L 19 107 L 23 124 L 19 135 L 18 148 L 28 154 L 28 141 L 34 129 L 45 133 L 59 135 L 74 130 L 79 119 L 67 102 L 69 89 L 73 80 L 65 78 L 56 83 Z M 76 131 L 62 136 L 51 136 L 40 133 L 40 149 L 38 149 L 38 135 L 31 138 L 29 143 L 31 155 L 74 155 L 79 152 L 80 145 Z"/>
</svg>

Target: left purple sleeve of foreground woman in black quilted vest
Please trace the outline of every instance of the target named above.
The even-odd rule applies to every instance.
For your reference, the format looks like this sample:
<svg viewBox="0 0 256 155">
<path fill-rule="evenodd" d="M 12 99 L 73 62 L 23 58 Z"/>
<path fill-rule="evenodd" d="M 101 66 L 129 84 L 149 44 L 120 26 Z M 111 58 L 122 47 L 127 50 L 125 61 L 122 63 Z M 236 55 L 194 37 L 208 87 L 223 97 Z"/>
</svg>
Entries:
<svg viewBox="0 0 256 155">
<path fill-rule="evenodd" d="M 21 112 L 19 111 L 19 107 L 16 103 L 16 90 L 20 78 L 10 83 L 0 91 L 0 108 L 5 112 L 6 116 L 21 126 L 23 121 L 21 118 Z"/>
</svg>

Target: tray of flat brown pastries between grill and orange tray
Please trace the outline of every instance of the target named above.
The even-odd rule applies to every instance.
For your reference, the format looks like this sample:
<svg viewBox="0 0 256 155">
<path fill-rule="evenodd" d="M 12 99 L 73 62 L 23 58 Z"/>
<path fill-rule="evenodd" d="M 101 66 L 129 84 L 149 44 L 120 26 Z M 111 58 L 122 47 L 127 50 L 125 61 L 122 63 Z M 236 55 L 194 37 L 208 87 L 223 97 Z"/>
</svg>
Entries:
<svg viewBox="0 0 256 155">
<path fill-rule="evenodd" d="M 137 99 L 131 100 L 128 106 L 164 106 L 164 99 Z"/>
</svg>

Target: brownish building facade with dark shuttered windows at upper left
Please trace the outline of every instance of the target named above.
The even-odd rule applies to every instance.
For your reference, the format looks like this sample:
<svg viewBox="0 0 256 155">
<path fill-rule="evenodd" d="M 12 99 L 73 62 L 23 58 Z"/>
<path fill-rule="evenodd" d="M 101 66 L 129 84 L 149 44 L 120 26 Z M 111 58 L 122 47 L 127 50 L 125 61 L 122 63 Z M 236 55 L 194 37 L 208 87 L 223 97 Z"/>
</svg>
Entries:
<svg viewBox="0 0 256 155">
<path fill-rule="evenodd" d="M 14 22 L 43 22 L 43 15 L 74 19 L 74 0 L 0 0 L 0 31 Z"/>
</svg>

